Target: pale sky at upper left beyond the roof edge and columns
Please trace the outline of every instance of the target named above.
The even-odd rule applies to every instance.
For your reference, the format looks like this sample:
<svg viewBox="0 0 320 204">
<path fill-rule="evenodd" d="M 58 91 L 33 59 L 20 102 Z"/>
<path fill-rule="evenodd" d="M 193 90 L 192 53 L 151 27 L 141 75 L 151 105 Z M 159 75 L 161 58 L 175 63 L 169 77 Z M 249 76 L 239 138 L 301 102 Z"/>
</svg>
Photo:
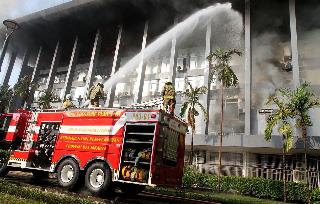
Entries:
<svg viewBox="0 0 320 204">
<path fill-rule="evenodd" d="M 0 0 L 0 22 L 6 19 L 17 19 L 22 16 L 26 16 L 30 13 L 42 11 L 44 9 L 66 3 L 68 1 L 71 1 L 71 0 Z M 5 33 L 3 35 L 5 35 Z M 12 35 L 14 35 L 14 33 Z M 2 45 L 3 45 L 3 42 L 0 42 L 0 49 L 2 49 Z M 3 78 L 8 57 L 9 57 L 9 54 L 6 53 L 2 67 L 1 67 L 0 80 Z M 20 64 L 21 64 L 21 60 L 17 58 L 14 64 L 12 73 L 18 72 Z M 17 75 L 15 74 L 14 76 L 10 77 L 9 84 L 14 85 L 16 83 L 16 80 L 17 80 Z"/>
</svg>

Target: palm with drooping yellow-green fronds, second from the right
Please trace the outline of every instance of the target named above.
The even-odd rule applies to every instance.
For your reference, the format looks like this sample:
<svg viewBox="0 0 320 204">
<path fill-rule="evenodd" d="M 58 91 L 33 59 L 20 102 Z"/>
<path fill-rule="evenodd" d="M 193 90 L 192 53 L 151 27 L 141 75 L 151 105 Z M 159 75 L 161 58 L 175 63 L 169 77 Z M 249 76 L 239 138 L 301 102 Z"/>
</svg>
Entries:
<svg viewBox="0 0 320 204">
<path fill-rule="evenodd" d="M 292 112 L 289 105 L 283 102 L 280 98 L 276 96 L 270 96 L 270 99 L 265 102 L 266 106 L 271 103 L 275 103 L 278 107 L 278 112 L 271 113 L 267 118 L 267 127 L 264 130 L 264 139 L 271 142 L 271 132 L 272 129 L 280 123 L 278 132 L 282 134 L 282 147 L 283 147 L 283 185 L 284 185 L 284 202 L 287 202 L 287 181 L 286 181 L 286 171 L 285 171 L 285 151 L 288 151 L 293 142 L 292 127 L 286 121 L 288 118 L 292 118 Z M 284 141 L 286 142 L 284 143 Z"/>
</svg>

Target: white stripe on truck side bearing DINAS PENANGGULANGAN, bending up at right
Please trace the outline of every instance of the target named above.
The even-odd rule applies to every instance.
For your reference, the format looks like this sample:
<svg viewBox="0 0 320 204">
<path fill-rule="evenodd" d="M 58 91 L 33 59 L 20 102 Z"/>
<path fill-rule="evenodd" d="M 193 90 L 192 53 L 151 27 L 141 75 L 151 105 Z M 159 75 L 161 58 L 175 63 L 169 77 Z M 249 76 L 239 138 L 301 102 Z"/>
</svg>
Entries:
<svg viewBox="0 0 320 204">
<path fill-rule="evenodd" d="M 61 134 L 99 134 L 99 135 L 114 135 L 124 126 L 125 114 L 113 126 L 84 126 L 84 125 L 61 125 L 59 133 Z"/>
</svg>

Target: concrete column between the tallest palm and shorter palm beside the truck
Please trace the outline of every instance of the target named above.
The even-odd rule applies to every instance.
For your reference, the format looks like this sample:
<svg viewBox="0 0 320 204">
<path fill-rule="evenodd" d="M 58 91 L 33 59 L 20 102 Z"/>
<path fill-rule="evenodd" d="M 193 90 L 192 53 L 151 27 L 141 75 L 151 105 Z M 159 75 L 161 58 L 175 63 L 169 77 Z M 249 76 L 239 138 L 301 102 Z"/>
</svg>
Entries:
<svg viewBox="0 0 320 204">
<path fill-rule="evenodd" d="M 207 33 L 206 33 L 206 40 L 205 40 L 205 57 L 212 53 L 212 42 L 211 42 L 211 21 L 207 24 Z M 206 66 L 204 68 L 204 86 L 208 87 L 207 93 L 203 94 L 202 105 L 204 109 L 208 113 L 209 117 L 209 106 L 210 106 L 210 84 L 211 81 L 209 80 L 209 76 L 211 74 L 211 60 L 209 62 L 205 62 Z M 202 113 L 201 117 L 201 134 L 208 134 L 209 128 L 209 121 L 203 123 L 204 121 L 204 114 Z"/>
</svg>

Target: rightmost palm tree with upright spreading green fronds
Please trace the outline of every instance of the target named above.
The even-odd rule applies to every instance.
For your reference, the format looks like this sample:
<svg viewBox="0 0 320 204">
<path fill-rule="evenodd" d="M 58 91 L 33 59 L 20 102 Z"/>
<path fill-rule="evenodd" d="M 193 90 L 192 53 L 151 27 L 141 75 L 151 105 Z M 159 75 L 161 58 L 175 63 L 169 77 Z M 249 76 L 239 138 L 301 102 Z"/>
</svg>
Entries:
<svg viewBox="0 0 320 204">
<path fill-rule="evenodd" d="M 291 89 L 279 89 L 280 94 L 284 96 L 286 100 L 288 100 L 291 105 L 292 113 L 297 116 L 297 120 L 295 122 L 295 127 L 300 129 L 301 139 L 304 143 L 304 156 L 306 162 L 306 177 L 307 177 L 307 191 L 308 191 L 308 201 L 310 203 L 310 189 L 309 189 L 309 180 L 308 180 L 308 163 L 307 163 L 307 151 L 306 151 L 306 142 L 307 142 L 307 134 L 308 127 L 312 125 L 311 117 L 308 116 L 308 110 L 313 109 L 315 107 L 320 107 L 320 103 L 318 100 L 320 97 L 312 91 L 309 92 L 308 89 L 310 87 L 310 83 L 305 81 L 302 86 L 297 86 L 296 90 Z"/>
</svg>

